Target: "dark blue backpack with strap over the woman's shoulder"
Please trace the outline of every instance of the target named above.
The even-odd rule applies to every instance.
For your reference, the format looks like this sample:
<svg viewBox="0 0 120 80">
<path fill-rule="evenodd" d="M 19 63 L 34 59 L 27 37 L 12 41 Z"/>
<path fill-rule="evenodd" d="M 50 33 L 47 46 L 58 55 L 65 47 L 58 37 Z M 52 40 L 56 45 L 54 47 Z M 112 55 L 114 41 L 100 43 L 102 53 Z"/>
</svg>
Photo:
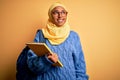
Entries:
<svg viewBox="0 0 120 80">
<path fill-rule="evenodd" d="M 38 30 L 37 33 L 40 34 L 39 42 L 45 43 L 45 38 L 43 37 L 43 33 L 41 30 Z M 36 75 L 31 70 L 29 70 L 27 65 L 27 52 L 30 48 L 25 46 L 22 52 L 19 54 L 17 62 L 16 62 L 16 80 L 35 80 Z"/>
</svg>

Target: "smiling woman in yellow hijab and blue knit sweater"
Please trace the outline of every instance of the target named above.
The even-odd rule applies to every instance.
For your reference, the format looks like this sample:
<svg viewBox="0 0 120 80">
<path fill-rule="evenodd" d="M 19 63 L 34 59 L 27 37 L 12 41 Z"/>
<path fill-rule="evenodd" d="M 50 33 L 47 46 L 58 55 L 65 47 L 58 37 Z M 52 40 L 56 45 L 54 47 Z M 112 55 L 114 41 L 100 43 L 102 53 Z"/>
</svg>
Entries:
<svg viewBox="0 0 120 80">
<path fill-rule="evenodd" d="M 79 36 L 70 31 L 67 14 L 66 7 L 60 3 L 49 8 L 47 25 L 36 33 L 34 42 L 41 42 L 44 36 L 43 42 L 53 54 L 39 57 L 29 50 L 27 65 L 34 76 L 25 76 L 24 80 L 88 80 Z M 63 67 L 53 66 L 58 59 Z"/>
</svg>

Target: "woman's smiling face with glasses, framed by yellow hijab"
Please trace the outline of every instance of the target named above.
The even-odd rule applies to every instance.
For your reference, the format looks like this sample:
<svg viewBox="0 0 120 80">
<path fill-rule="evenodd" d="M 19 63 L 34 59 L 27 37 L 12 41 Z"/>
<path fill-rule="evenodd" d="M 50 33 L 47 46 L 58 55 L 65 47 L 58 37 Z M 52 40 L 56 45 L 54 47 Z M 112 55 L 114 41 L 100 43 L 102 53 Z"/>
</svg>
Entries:
<svg viewBox="0 0 120 80">
<path fill-rule="evenodd" d="M 63 26 L 66 22 L 66 19 L 67 19 L 67 11 L 63 8 L 63 7 L 55 7 L 52 12 L 51 12 L 51 15 L 52 15 L 52 22 L 60 27 L 60 26 Z"/>
</svg>

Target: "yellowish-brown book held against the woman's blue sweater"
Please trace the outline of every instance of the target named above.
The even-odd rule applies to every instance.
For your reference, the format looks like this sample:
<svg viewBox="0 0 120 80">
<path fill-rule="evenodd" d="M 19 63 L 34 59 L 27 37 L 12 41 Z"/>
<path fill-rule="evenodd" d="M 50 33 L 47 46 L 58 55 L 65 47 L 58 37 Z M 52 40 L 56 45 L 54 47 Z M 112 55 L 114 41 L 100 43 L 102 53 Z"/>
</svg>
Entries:
<svg viewBox="0 0 120 80">
<path fill-rule="evenodd" d="M 26 45 L 38 56 L 43 56 L 47 53 L 52 54 L 52 51 L 50 50 L 50 48 L 45 43 L 31 42 L 31 43 L 27 43 Z M 63 67 L 62 63 L 59 60 L 58 60 L 57 63 L 55 63 L 53 65 Z"/>
</svg>

